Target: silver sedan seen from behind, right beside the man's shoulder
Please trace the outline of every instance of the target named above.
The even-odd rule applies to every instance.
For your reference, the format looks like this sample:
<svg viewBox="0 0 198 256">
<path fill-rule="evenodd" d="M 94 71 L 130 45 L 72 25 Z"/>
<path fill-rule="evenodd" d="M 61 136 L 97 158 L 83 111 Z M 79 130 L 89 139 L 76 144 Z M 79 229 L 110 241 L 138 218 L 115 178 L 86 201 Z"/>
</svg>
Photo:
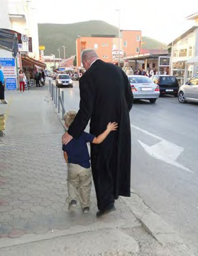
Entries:
<svg viewBox="0 0 198 256">
<path fill-rule="evenodd" d="M 148 99 L 155 103 L 160 96 L 160 88 L 147 76 L 128 76 L 134 99 Z"/>
</svg>

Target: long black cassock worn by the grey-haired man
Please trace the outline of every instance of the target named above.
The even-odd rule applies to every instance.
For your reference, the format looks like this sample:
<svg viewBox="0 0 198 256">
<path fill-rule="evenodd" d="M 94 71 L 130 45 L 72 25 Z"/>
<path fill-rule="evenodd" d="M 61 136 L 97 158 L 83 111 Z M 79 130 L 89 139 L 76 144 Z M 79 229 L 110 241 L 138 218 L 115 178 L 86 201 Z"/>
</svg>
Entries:
<svg viewBox="0 0 198 256">
<path fill-rule="evenodd" d="M 98 209 L 118 196 L 130 196 L 130 119 L 133 94 L 128 77 L 114 64 L 96 60 L 80 79 L 80 110 L 68 133 L 74 138 L 85 130 L 101 134 L 109 122 L 117 122 L 100 144 L 91 145 L 91 164 Z"/>
</svg>

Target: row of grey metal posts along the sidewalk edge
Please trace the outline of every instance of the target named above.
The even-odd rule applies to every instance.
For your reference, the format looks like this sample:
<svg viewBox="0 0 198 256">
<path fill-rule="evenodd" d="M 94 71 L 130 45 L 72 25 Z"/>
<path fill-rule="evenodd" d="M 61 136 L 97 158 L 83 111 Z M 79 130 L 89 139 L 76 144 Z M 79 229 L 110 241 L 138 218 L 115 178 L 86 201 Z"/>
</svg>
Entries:
<svg viewBox="0 0 198 256">
<path fill-rule="evenodd" d="M 56 88 L 55 88 L 56 87 Z M 49 80 L 49 91 L 54 102 L 55 107 L 58 107 L 58 113 L 62 112 L 62 120 L 64 120 L 65 106 L 64 106 L 64 91 L 54 86 L 51 80 Z M 62 109 L 60 109 L 62 107 Z"/>
</svg>

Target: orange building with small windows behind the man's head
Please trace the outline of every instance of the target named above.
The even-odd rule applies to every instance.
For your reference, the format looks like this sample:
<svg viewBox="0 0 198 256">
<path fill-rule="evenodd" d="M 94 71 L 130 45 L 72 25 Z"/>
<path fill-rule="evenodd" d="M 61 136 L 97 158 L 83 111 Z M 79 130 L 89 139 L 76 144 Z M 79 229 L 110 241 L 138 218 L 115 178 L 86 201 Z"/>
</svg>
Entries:
<svg viewBox="0 0 198 256">
<path fill-rule="evenodd" d="M 111 35 L 92 35 L 92 37 L 78 37 L 76 40 L 77 67 L 81 67 L 81 52 L 93 49 L 99 59 L 105 62 L 118 63 L 119 38 Z M 141 52 L 141 31 L 120 31 L 120 61 L 126 55 L 138 55 Z"/>
</svg>

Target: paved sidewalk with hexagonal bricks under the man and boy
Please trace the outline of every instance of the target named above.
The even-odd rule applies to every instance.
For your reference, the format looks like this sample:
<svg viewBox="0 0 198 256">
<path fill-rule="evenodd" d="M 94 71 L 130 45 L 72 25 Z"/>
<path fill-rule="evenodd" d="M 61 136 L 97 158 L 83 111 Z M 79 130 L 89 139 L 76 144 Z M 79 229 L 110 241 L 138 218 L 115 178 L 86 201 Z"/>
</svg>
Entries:
<svg viewBox="0 0 198 256">
<path fill-rule="evenodd" d="M 5 137 L 0 138 L 0 256 L 193 255 L 135 194 L 117 211 L 96 218 L 68 212 L 61 135 L 47 87 L 6 91 Z M 1 107 L 1 106 L 0 106 Z"/>
</svg>

